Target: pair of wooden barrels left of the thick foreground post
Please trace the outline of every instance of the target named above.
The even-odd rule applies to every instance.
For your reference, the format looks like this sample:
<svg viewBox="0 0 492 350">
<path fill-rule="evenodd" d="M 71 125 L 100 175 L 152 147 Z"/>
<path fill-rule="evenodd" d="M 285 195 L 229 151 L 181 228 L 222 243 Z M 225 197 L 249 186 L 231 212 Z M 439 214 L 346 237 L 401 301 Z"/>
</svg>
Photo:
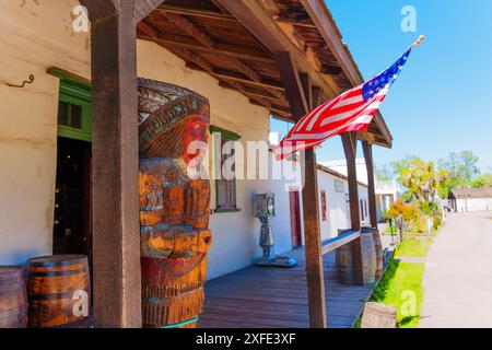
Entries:
<svg viewBox="0 0 492 350">
<path fill-rule="evenodd" d="M 91 283 L 87 257 L 57 255 L 0 267 L 0 328 L 86 328 Z"/>
</svg>

